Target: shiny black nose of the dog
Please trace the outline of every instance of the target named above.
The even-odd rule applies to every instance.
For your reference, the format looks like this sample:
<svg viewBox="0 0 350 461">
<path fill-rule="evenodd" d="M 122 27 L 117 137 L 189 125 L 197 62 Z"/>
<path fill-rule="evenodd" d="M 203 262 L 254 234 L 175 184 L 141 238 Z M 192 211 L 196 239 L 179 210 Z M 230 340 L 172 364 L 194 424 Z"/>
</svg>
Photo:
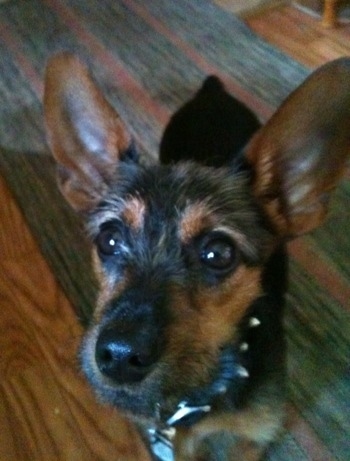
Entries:
<svg viewBox="0 0 350 461">
<path fill-rule="evenodd" d="M 159 340 L 152 331 L 106 327 L 96 342 L 99 370 L 118 384 L 141 381 L 153 369 L 159 355 Z"/>
</svg>

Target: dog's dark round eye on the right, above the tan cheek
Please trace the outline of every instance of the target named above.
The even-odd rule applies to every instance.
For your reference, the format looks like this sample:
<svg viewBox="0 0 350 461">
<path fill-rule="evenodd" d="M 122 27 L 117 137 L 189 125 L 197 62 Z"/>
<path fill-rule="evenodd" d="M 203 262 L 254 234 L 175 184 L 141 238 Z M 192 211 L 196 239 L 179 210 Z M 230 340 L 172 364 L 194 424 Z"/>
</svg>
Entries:
<svg viewBox="0 0 350 461">
<path fill-rule="evenodd" d="M 236 265 L 235 245 L 228 238 L 214 237 L 204 243 L 200 259 L 208 268 L 226 273 Z"/>
</svg>

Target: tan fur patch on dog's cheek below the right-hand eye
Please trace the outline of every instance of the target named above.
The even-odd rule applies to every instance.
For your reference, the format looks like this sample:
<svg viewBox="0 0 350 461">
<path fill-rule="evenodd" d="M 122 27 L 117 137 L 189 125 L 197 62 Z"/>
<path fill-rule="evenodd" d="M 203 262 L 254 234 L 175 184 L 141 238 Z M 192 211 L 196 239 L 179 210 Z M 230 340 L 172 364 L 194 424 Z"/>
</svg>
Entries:
<svg viewBox="0 0 350 461">
<path fill-rule="evenodd" d="M 215 363 L 221 346 L 234 340 L 235 325 L 260 294 L 260 275 L 260 268 L 242 265 L 220 287 L 170 289 L 174 321 L 168 331 L 167 360 L 174 363 L 179 386 L 189 380 L 200 385 L 208 379 L 208 365 Z M 188 350 L 192 354 L 186 361 Z"/>
</svg>

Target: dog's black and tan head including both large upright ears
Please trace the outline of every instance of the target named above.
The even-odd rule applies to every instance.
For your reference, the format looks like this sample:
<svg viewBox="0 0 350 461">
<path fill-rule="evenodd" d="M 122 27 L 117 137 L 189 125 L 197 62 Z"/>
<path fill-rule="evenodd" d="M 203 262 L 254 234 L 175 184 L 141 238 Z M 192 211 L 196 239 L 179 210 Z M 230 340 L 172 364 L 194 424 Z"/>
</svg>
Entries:
<svg viewBox="0 0 350 461">
<path fill-rule="evenodd" d="M 124 123 L 68 54 L 49 63 L 45 116 L 100 282 L 84 371 L 106 401 L 153 417 L 213 379 L 274 248 L 323 221 L 349 152 L 349 60 L 287 99 L 245 148 L 242 170 L 198 156 L 139 164 Z"/>
</svg>

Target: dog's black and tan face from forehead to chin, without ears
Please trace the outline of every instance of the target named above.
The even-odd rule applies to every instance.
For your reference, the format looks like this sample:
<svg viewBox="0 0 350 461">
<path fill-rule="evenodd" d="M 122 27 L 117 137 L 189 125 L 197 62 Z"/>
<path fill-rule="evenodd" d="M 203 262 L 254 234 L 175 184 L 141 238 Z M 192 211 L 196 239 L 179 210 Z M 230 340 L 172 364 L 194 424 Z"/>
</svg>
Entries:
<svg viewBox="0 0 350 461">
<path fill-rule="evenodd" d="M 118 176 L 88 222 L 101 291 L 83 365 L 108 401 L 154 415 L 215 376 L 271 235 L 244 174 L 125 164 Z"/>
</svg>

